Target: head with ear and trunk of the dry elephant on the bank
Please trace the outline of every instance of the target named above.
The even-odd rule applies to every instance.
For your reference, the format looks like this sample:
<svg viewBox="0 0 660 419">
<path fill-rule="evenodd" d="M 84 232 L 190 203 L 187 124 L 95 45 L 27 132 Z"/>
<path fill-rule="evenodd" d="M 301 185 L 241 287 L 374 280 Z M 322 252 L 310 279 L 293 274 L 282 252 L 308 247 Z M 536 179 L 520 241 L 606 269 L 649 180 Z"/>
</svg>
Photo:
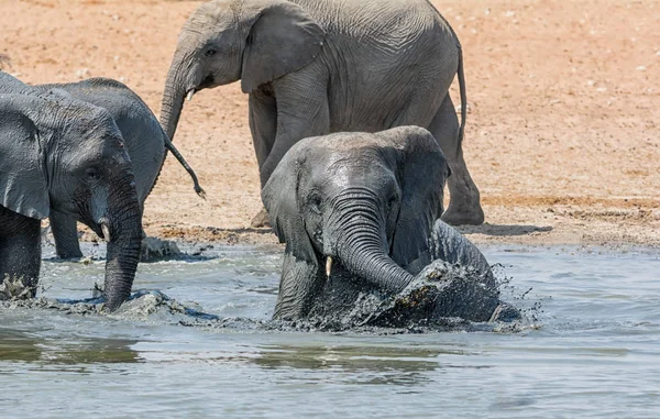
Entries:
<svg viewBox="0 0 660 419">
<path fill-rule="evenodd" d="M 163 92 L 161 123 L 174 137 L 184 99 L 241 79 L 251 92 L 309 64 L 323 44 L 323 30 L 286 0 L 215 0 L 188 19 Z"/>
</svg>

